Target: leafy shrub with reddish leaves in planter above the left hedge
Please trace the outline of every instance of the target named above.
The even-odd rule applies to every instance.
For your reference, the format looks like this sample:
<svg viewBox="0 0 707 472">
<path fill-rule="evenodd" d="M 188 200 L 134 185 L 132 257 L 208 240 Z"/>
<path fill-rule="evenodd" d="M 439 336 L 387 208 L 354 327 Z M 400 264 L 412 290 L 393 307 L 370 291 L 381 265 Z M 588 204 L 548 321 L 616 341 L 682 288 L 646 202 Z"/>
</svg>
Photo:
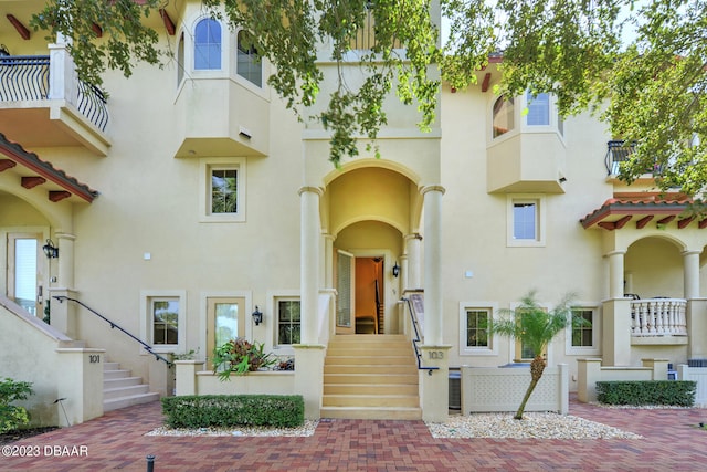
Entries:
<svg viewBox="0 0 707 472">
<path fill-rule="evenodd" d="M 213 371 L 219 380 L 230 380 L 231 373 L 244 375 L 260 368 L 267 368 L 277 361 L 275 356 L 265 353 L 265 344 L 250 343 L 242 337 L 231 339 L 213 349 Z"/>
</svg>

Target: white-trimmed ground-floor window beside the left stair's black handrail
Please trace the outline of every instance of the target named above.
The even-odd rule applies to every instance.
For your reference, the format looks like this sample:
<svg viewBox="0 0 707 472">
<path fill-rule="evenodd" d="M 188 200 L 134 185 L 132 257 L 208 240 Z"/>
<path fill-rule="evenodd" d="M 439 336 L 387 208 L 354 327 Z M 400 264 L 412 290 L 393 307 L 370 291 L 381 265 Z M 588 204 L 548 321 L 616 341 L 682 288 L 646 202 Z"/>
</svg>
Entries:
<svg viewBox="0 0 707 472">
<path fill-rule="evenodd" d="M 156 291 L 140 294 L 140 336 L 156 353 L 173 353 L 184 346 L 187 294 Z"/>
</svg>

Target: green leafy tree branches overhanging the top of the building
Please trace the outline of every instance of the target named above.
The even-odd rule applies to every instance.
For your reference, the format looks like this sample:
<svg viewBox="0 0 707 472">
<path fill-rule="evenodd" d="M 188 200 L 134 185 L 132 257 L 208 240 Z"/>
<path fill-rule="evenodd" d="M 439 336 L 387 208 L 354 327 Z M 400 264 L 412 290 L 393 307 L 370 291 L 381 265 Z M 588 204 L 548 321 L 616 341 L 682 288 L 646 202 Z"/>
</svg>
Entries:
<svg viewBox="0 0 707 472">
<path fill-rule="evenodd" d="M 449 20 L 440 25 L 436 4 Z M 498 93 L 551 92 L 560 112 L 597 108 L 614 138 L 636 143 L 621 177 L 646 169 L 657 183 L 697 195 L 707 183 L 707 0 L 202 0 L 232 27 L 254 33 L 255 48 L 274 65 L 270 85 L 298 117 L 319 120 L 331 136 L 330 160 L 357 155 L 357 137 L 376 138 L 387 124 L 384 98 L 397 93 L 435 119 L 442 81 L 463 88 L 489 56 L 503 54 Z M 157 0 L 49 0 L 33 25 L 70 44 L 82 78 L 101 84 L 106 67 L 131 73 L 136 61 L 167 55 L 141 21 Z M 220 10 L 223 6 L 223 10 Z M 351 40 L 374 21 L 371 49 L 351 55 Z M 103 28 L 97 40 L 94 24 Z M 626 36 L 625 31 L 632 32 Z M 106 40 L 107 38 L 107 40 Z M 319 96 L 320 61 L 357 64 L 360 86 L 338 75 Z M 317 101 L 328 101 L 315 109 Z M 697 137 L 697 138 L 696 138 Z"/>
</svg>

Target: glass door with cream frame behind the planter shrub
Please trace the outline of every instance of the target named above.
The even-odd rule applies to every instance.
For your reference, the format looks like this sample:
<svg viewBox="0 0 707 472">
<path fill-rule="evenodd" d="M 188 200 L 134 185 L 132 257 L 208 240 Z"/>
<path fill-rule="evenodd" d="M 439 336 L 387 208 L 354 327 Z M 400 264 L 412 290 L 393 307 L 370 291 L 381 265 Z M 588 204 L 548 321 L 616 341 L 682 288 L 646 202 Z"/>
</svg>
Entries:
<svg viewBox="0 0 707 472">
<path fill-rule="evenodd" d="M 207 358 L 212 358 L 217 346 L 243 336 L 245 336 L 245 298 L 208 297 Z M 213 368 L 211 360 L 208 368 Z"/>
</svg>

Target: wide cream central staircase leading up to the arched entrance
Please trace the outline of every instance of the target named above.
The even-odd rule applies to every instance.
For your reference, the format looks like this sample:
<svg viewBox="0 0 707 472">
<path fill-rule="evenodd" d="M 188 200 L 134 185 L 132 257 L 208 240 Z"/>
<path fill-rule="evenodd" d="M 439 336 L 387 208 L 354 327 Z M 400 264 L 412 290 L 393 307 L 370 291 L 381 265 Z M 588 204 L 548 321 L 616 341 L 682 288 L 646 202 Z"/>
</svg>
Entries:
<svg viewBox="0 0 707 472">
<path fill-rule="evenodd" d="M 418 365 L 403 335 L 347 335 L 329 340 L 321 418 L 419 420 Z"/>
</svg>

